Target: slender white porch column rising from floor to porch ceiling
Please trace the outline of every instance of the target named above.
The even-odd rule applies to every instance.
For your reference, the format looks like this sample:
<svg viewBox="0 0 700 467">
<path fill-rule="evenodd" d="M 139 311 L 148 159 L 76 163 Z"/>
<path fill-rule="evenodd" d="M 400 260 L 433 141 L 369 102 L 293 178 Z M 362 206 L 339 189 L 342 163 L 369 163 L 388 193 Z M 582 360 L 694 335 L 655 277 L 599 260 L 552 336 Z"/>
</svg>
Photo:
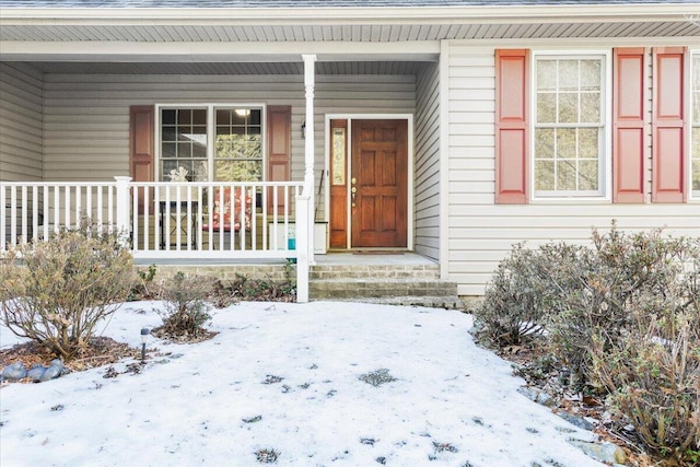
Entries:
<svg viewBox="0 0 700 467">
<path fill-rule="evenodd" d="M 316 85 L 316 56 L 302 55 L 304 86 L 306 87 L 306 140 L 304 141 L 304 192 L 308 194 L 308 262 L 314 264 L 314 87 Z M 308 191 L 306 191 L 308 190 Z"/>
</svg>

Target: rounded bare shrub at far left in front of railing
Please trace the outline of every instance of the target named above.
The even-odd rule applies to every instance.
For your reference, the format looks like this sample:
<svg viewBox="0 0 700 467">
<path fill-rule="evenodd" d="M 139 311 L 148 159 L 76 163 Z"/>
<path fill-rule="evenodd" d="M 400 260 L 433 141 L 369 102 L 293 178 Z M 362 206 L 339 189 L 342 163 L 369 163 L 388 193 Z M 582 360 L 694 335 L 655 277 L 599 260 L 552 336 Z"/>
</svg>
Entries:
<svg viewBox="0 0 700 467">
<path fill-rule="evenodd" d="M 118 237 L 60 232 L 10 248 L 0 261 L 0 319 L 63 360 L 84 350 L 95 326 L 120 305 L 132 281 L 132 258 Z"/>
</svg>

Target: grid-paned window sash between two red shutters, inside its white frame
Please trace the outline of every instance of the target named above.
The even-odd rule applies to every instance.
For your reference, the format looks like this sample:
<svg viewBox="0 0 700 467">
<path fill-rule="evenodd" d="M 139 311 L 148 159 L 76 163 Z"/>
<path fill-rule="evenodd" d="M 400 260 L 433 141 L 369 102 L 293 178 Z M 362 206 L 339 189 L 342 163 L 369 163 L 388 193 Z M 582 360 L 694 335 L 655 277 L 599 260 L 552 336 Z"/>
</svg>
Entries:
<svg viewBox="0 0 700 467">
<path fill-rule="evenodd" d="M 535 55 L 535 197 L 606 194 L 606 56 Z"/>
</svg>

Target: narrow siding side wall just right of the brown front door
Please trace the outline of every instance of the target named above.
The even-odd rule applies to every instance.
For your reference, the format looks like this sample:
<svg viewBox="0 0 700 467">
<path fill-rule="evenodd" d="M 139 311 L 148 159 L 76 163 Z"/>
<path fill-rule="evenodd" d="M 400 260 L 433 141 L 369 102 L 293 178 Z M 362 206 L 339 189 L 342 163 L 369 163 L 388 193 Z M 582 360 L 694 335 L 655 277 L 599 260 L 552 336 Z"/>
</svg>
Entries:
<svg viewBox="0 0 700 467">
<path fill-rule="evenodd" d="M 416 83 L 416 252 L 440 256 L 440 67 L 423 66 Z"/>
</svg>

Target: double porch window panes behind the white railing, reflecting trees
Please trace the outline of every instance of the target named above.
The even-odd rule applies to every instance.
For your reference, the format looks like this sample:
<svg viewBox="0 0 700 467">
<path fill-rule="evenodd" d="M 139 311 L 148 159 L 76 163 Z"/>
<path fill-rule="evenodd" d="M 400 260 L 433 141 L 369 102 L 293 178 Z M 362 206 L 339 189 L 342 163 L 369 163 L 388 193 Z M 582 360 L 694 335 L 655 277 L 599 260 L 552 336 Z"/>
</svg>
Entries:
<svg viewBox="0 0 700 467">
<path fill-rule="evenodd" d="M 160 107 L 161 180 L 261 180 L 262 154 L 261 107 Z"/>
</svg>

